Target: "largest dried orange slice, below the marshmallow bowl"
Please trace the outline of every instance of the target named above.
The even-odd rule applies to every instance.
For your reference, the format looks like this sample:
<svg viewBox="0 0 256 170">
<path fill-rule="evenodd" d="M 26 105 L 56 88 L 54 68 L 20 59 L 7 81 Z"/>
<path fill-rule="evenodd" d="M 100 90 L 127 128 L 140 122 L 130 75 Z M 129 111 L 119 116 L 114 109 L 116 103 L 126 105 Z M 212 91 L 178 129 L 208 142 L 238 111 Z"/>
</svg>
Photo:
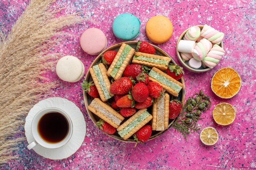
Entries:
<svg viewBox="0 0 256 170">
<path fill-rule="evenodd" d="M 233 68 L 221 68 L 211 79 L 211 90 L 219 97 L 229 99 L 241 87 L 241 78 Z"/>
</svg>

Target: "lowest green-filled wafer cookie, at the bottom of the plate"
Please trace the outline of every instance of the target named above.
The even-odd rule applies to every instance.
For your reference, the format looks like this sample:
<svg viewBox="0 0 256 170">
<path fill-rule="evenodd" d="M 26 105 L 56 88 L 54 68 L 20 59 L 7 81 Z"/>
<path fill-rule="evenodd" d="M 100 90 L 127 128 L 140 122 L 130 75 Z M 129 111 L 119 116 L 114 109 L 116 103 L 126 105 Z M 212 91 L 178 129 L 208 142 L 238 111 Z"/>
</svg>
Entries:
<svg viewBox="0 0 256 170">
<path fill-rule="evenodd" d="M 151 119 L 152 115 L 148 113 L 147 109 L 141 109 L 117 128 L 118 134 L 126 140 Z"/>
</svg>

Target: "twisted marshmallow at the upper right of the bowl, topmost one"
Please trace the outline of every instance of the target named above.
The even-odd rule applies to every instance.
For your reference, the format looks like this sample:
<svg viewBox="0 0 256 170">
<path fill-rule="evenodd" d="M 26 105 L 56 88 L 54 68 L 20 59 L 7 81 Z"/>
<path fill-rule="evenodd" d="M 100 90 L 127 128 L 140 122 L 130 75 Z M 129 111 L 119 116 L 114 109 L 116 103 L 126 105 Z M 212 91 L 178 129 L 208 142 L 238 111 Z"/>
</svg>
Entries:
<svg viewBox="0 0 256 170">
<path fill-rule="evenodd" d="M 201 36 L 211 41 L 213 44 L 220 44 L 224 38 L 224 33 L 221 33 L 220 31 L 217 31 L 211 26 L 205 24 L 201 31 Z"/>
</svg>

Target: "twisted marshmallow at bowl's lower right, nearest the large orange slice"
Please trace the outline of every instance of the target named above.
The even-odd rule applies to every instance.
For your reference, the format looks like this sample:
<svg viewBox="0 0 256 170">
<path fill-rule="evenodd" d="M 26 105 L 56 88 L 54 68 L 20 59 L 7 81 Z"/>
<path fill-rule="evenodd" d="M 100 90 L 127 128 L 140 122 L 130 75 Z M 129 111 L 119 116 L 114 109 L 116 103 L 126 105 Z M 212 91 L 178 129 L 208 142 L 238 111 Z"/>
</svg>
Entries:
<svg viewBox="0 0 256 170">
<path fill-rule="evenodd" d="M 206 57 L 204 57 L 203 62 L 206 66 L 213 68 L 218 64 L 218 62 L 220 62 L 224 54 L 224 49 L 215 44 L 213 45 L 211 51 L 209 51 L 209 53 L 206 55 Z"/>
</svg>

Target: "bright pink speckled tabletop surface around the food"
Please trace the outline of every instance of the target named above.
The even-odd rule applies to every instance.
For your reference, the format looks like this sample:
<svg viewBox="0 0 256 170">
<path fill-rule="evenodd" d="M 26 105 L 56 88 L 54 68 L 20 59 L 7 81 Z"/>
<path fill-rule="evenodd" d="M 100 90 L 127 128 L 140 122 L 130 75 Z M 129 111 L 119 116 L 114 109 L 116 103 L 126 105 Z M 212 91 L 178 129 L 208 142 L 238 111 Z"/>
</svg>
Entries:
<svg viewBox="0 0 256 170">
<path fill-rule="evenodd" d="M 25 10 L 28 0 L 1 0 L 0 26 L 11 29 L 18 16 Z M 220 64 L 206 73 L 191 73 L 185 70 L 186 98 L 200 89 L 211 96 L 212 107 L 198 121 L 201 129 L 212 126 L 219 134 L 214 146 L 204 146 L 200 132 L 189 135 L 185 141 L 182 135 L 169 129 L 162 136 L 144 145 L 116 141 L 99 131 L 88 117 L 83 103 L 80 82 L 67 83 L 58 80 L 55 72 L 49 73 L 50 80 L 58 80 L 61 87 L 52 91 L 52 96 L 65 97 L 74 102 L 83 112 L 87 123 L 87 134 L 81 148 L 68 159 L 52 161 L 27 150 L 27 142 L 15 153 L 21 159 L 9 162 L 4 169 L 122 169 L 122 170 L 167 170 L 167 169 L 256 169 L 256 5 L 255 0 L 164 0 L 116 2 L 98 0 L 57 0 L 55 8 L 63 8 L 61 15 L 81 12 L 87 20 L 64 31 L 73 37 L 60 42 L 55 51 L 74 55 L 88 70 L 96 56 L 88 55 L 80 47 L 79 38 L 85 29 L 101 29 L 108 39 L 108 46 L 121 42 L 112 32 L 112 22 L 121 13 L 132 13 L 141 21 L 141 33 L 136 40 L 146 40 L 145 25 L 149 18 L 164 15 L 173 23 L 173 36 L 158 44 L 178 63 L 175 54 L 177 40 L 189 26 L 209 24 L 225 33 L 223 40 L 227 52 Z M 8 31 L 7 31 L 8 32 Z M 231 99 L 220 99 L 211 91 L 211 77 L 223 67 L 234 68 L 241 76 L 240 92 Z M 214 123 L 212 110 L 216 104 L 227 102 L 236 109 L 236 119 L 230 126 Z M 20 136 L 24 137 L 24 133 Z"/>
</svg>

